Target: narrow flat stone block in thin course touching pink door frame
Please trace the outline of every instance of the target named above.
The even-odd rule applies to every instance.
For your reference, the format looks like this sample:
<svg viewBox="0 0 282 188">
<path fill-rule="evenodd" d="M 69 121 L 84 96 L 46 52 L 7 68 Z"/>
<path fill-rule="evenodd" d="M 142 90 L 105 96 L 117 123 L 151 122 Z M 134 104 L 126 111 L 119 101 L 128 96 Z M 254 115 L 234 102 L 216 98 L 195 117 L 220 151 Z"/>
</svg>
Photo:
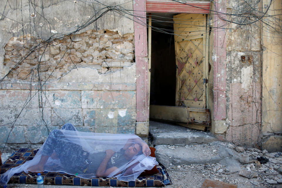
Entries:
<svg viewBox="0 0 282 188">
<path fill-rule="evenodd" d="M 92 89 L 93 90 L 93 89 Z M 136 90 L 136 83 L 98 83 L 98 90 Z"/>
</svg>

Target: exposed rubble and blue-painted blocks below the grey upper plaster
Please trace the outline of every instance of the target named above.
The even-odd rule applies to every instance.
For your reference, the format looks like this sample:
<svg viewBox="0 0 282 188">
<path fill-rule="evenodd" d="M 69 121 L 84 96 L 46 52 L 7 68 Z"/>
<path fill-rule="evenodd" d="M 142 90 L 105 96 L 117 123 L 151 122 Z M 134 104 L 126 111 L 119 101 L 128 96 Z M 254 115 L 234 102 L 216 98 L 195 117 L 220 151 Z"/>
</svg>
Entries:
<svg viewBox="0 0 282 188">
<path fill-rule="evenodd" d="M 134 34 L 88 30 L 48 43 L 30 35 L 4 47 L 0 142 L 42 143 L 49 130 L 73 123 L 80 131 L 135 133 Z M 44 122 L 43 122 L 44 121 Z"/>
</svg>

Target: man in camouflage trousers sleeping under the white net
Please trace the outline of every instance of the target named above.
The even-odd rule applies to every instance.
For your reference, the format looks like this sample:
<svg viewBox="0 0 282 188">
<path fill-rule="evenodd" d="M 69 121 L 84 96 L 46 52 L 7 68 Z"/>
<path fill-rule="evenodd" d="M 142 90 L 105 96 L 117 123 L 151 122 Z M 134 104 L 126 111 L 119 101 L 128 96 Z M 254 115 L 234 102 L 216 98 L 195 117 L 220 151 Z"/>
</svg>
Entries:
<svg viewBox="0 0 282 188">
<path fill-rule="evenodd" d="M 67 123 L 62 130 L 74 130 L 75 127 Z M 114 144 L 114 143 L 113 143 Z M 97 177 L 107 177 L 124 164 L 127 164 L 137 154 L 150 155 L 149 146 L 141 139 L 130 139 L 118 152 L 111 149 L 105 152 L 89 154 L 81 145 L 70 142 L 61 130 L 53 130 L 42 148 L 42 156 L 38 164 L 28 168 L 29 172 L 43 172 L 49 157 L 60 159 L 65 168 L 77 173 L 95 173 Z M 72 161 L 72 163 L 70 163 Z"/>
</svg>

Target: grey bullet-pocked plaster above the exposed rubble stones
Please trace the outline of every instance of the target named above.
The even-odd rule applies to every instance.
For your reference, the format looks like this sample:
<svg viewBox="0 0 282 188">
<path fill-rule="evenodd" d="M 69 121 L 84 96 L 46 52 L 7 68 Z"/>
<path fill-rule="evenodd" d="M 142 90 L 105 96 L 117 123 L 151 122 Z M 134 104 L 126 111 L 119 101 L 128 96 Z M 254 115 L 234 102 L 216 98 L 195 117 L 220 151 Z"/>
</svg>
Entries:
<svg viewBox="0 0 282 188">
<path fill-rule="evenodd" d="M 3 68 L 4 46 L 12 36 L 19 38 L 23 34 L 30 33 L 35 38 L 46 40 L 56 33 L 65 34 L 75 31 L 79 26 L 89 21 L 90 18 L 95 17 L 96 12 L 91 8 L 91 4 L 85 5 L 82 1 L 77 1 L 77 3 L 65 0 L 36 1 L 36 4 L 33 5 L 36 9 L 36 16 L 31 18 L 32 12 L 30 11 L 32 9 L 30 10 L 29 2 L 33 3 L 31 1 L 21 1 L 21 4 L 17 3 L 17 1 L 9 1 L 9 6 L 0 7 L 0 11 L 6 16 L 6 18 L 0 21 L 0 68 Z M 100 3 L 109 4 L 109 1 L 101 0 Z M 4 5 L 6 1 L 0 0 L 0 4 Z M 101 4 L 94 3 L 93 5 L 95 5 L 97 10 L 105 8 Z M 125 0 L 111 1 L 109 5 L 119 4 L 122 4 L 125 10 L 133 9 L 133 3 L 128 3 Z M 100 30 L 107 28 L 119 31 L 121 34 L 134 33 L 132 17 L 129 15 L 128 17 L 126 18 L 109 11 L 102 19 L 99 19 L 80 32 L 89 29 Z M 24 23 L 23 27 L 22 23 Z M 96 23 L 97 25 L 95 25 Z"/>
</svg>

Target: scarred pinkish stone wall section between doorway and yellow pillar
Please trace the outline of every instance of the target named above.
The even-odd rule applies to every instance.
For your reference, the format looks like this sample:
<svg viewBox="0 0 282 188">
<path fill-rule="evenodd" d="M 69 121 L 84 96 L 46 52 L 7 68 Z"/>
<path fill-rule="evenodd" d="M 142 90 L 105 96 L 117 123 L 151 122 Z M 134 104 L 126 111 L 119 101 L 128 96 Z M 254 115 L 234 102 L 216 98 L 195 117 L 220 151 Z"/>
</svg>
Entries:
<svg viewBox="0 0 282 188">
<path fill-rule="evenodd" d="M 248 9 L 250 5 L 247 2 L 252 7 L 260 7 L 259 1 L 237 2 L 233 0 L 226 1 L 224 4 L 216 4 L 216 6 L 222 6 L 221 11 L 225 11 L 226 8 L 226 13 L 229 15 L 245 14 L 244 10 Z M 219 10 L 219 7 L 214 9 Z M 259 144 L 261 140 L 260 22 L 249 24 L 245 19 L 246 16 L 221 15 L 219 17 L 214 16 L 212 22 L 219 22 L 219 20 L 222 22 L 224 17 L 224 19 L 235 23 L 226 21 L 224 33 L 217 35 L 219 39 L 214 38 L 215 41 L 224 38 L 226 56 L 222 57 L 210 51 L 212 60 L 225 59 L 224 62 L 221 62 L 221 66 L 226 67 L 225 70 L 214 69 L 217 71 L 214 75 L 216 81 L 219 79 L 217 76 L 226 75 L 226 78 L 221 80 L 226 83 L 225 88 L 221 88 L 226 95 L 226 105 L 225 108 L 221 108 L 221 112 L 223 113 L 223 109 L 226 109 L 224 110 L 226 114 L 222 115 L 222 119 L 212 121 L 212 132 L 220 140 L 234 142 L 236 145 L 254 146 Z M 222 30 L 216 30 L 216 32 L 218 31 Z M 214 33 L 212 34 L 214 35 Z M 218 46 L 214 45 L 214 51 L 216 48 L 222 48 L 224 43 L 217 44 Z M 221 101 L 217 100 L 213 103 L 221 103 Z"/>
</svg>

